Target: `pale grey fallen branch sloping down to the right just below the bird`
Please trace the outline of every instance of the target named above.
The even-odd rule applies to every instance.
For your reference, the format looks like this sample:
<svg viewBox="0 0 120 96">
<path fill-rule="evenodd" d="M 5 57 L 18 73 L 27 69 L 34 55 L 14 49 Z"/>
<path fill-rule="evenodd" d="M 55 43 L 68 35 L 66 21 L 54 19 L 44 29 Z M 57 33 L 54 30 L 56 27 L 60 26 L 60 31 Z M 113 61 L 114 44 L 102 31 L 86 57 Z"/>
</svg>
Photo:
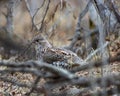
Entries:
<svg viewBox="0 0 120 96">
<path fill-rule="evenodd" d="M 53 73 L 57 76 L 62 76 L 63 78 L 66 78 L 66 79 L 71 79 L 71 78 L 76 77 L 74 74 L 68 72 L 65 69 L 58 68 L 56 66 L 53 66 L 52 64 L 47 64 L 47 63 L 40 62 L 40 61 L 27 61 L 27 62 L 21 62 L 21 63 L 1 61 L 0 66 L 7 66 L 7 67 L 11 67 L 11 68 L 16 68 L 16 69 L 13 70 L 13 71 L 16 70 L 16 72 L 17 71 L 25 72 L 25 68 L 27 68 L 27 69 L 36 68 L 36 70 L 40 70 L 40 69 L 44 68 L 48 72 L 51 72 L 51 73 Z M 32 71 L 32 69 L 28 70 L 28 71 Z"/>
</svg>

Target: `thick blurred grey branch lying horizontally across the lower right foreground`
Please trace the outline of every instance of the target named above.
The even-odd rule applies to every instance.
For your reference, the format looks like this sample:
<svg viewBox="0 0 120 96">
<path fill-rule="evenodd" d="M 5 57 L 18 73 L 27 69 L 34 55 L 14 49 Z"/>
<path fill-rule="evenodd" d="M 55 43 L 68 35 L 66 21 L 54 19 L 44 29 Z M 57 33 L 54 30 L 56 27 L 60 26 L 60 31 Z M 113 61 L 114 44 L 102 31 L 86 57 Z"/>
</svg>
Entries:
<svg viewBox="0 0 120 96">
<path fill-rule="evenodd" d="M 111 80 L 111 78 L 114 78 L 113 80 Z M 65 86 L 65 85 L 77 85 L 80 87 L 91 87 L 91 82 L 96 82 L 96 86 L 99 87 L 104 87 L 104 85 L 102 85 L 102 82 L 104 80 L 104 82 L 107 82 L 107 87 L 109 87 L 110 85 L 120 85 L 120 74 L 112 74 L 112 75 L 108 75 L 105 77 L 100 77 L 100 78 L 94 78 L 91 79 L 90 77 L 78 77 L 78 78 L 73 78 L 71 80 L 56 80 L 56 81 L 51 81 L 51 82 L 47 82 L 46 83 L 46 87 L 48 87 L 48 89 L 53 89 L 59 86 Z"/>
</svg>

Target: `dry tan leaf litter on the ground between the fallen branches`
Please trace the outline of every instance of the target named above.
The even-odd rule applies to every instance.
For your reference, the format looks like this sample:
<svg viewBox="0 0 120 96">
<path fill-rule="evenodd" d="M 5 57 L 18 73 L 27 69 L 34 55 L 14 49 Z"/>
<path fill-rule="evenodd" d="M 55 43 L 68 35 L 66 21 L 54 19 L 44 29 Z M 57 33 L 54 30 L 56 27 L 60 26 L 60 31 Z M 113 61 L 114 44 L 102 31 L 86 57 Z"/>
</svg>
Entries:
<svg viewBox="0 0 120 96">
<path fill-rule="evenodd" d="M 111 56 L 116 56 L 120 52 L 120 43 L 119 41 L 116 42 L 117 45 L 113 44 L 110 46 L 110 54 Z M 120 73 L 120 62 L 114 62 L 110 64 L 109 66 L 109 74 L 112 73 Z M 6 67 L 0 67 L 0 70 L 5 69 Z M 106 68 L 106 67 L 105 67 Z M 104 69 L 105 69 L 104 68 Z M 76 73 L 80 77 L 88 77 L 88 76 L 96 76 L 99 77 L 101 76 L 101 68 L 93 68 L 92 69 L 92 75 L 90 70 L 85 70 L 85 71 L 80 71 Z M 4 76 L 7 76 L 11 78 L 12 80 L 17 80 L 21 83 L 25 84 L 32 84 L 35 80 L 35 76 L 27 73 L 10 73 L 10 74 L 4 74 Z M 44 79 L 40 80 L 40 85 L 43 85 L 45 83 Z M 69 90 L 70 88 L 73 88 L 73 86 L 68 86 L 64 88 L 63 90 Z M 25 87 L 18 87 L 16 85 L 12 85 L 11 83 L 0 81 L 0 96 L 26 96 L 25 94 L 29 92 L 30 89 L 25 88 Z M 57 91 L 63 91 L 63 90 L 57 90 Z M 38 95 L 36 93 L 32 93 L 31 96 L 42 96 Z"/>
</svg>

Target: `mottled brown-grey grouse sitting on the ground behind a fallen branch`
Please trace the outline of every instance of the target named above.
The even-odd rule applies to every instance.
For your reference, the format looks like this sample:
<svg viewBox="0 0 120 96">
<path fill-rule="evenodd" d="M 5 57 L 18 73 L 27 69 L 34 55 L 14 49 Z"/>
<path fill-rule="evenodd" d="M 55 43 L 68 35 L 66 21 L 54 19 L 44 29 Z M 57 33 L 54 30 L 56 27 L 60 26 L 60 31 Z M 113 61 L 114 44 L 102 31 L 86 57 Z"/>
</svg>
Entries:
<svg viewBox="0 0 120 96">
<path fill-rule="evenodd" d="M 45 38 L 36 37 L 33 40 L 37 60 L 53 64 L 64 69 L 71 69 L 83 63 L 83 60 L 70 50 L 54 48 Z"/>
</svg>

